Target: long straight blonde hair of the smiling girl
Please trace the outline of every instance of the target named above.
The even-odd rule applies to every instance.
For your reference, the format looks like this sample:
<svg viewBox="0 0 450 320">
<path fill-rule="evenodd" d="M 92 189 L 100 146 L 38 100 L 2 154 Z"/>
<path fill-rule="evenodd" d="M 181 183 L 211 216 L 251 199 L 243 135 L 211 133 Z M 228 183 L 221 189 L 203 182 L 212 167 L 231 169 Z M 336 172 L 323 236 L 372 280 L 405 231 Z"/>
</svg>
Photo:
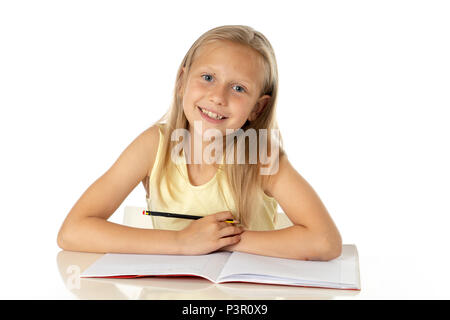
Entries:
<svg viewBox="0 0 450 320">
<path fill-rule="evenodd" d="M 266 39 L 266 37 L 254 30 L 251 27 L 243 26 L 243 25 L 227 25 L 220 26 L 214 29 L 211 29 L 201 35 L 191 46 L 189 51 L 186 53 L 183 61 L 181 62 L 177 77 L 176 83 L 173 93 L 173 101 L 169 111 L 164 114 L 164 116 L 159 119 L 155 124 L 160 125 L 163 133 L 164 139 L 162 143 L 162 154 L 161 161 L 159 161 L 158 165 L 154 168 L 155 172 L 155 182 L 156 186 L 160 185 L 161 179 L 164 175 L 166 175 L 169 185 L 169 193 L 173 194 L 170 189 L 170 173 L 174 170 L 168 170 L 170 166 L 175 166 L 175 164 L 171 161 L 170 152 L 173 150 L 176 141 L 171 141 L 171 132 L 175 129 L 189 129 L 189 123 L 186 119 L 186 116 L 183 112 L 183 92 L 184 85 L 187 82 L 187 77 L 189 74 L 190 67 L 196 58 L 199 50 L 206 44 L 214 42 L 214 41 L 232 41 L 235 43 L 239 43 L 249 48 L 256 50 L 262 58 L 264 64 L 264 79 L 263 85 L 261 88 L 261 95 L 270 95 L 268 103 L 265 108 L 261 111 L 258 117 L 254 121 L 247 121 L 241 129 L 245 132 L 247 129 L 255 129 L 257 134 L 258 144 L 260 142 L 259 129 L 267 129 L 267 144 L 264 147 L 267 147 L 266 150 L 270 149 L 270 133 L 271 129 L 278 130 L 278 124 L 276 121 L 276 100 L 277 100 L 277 92 L 278 92 L 278 68 L 275 59 L 274 50 L 270 44 L 270 42 Z M 183 72 L 184 68 L 184 72 Z M 234 139 L 234 138 L 233 138 Z M 234 141 L 234 140 L 233 140 Z M 248 163 L 249 155 L 248 155 L 248 141 L 245 143 L 245 163 L 237 164 L 237 161 L 231 165 L 224 165 L 218 168 L 219 170 L 223 170 L 226 180 L 230 186 L 231 193 L 233 195 L 233 200 L 236 206 L 236 212 L 234 212 L 234 216 L 238 219 L 241 224 L 246 227 L 249 225 L 251 219 L 256 219 L 257 217 L 252 215 L 252 208 L 255 208 L 254 203 L 256 201 L 262 201 L 262 186 L 263 186 L 263 177 L 260 174 L 261 163 L 258 160 L 256 164 Z M 279 158 L 285 154 L 282 149 L 282 139 L 281 135 L 279 135 Z M 223 144 L 224 151 L 225 143 Z M 258 146 L 259 150 L 261 150 L 262 146 Z M 236 146 L 234 147 L 236 151 Z M 236 156 L 236 152 L 234 155 Z M 278 161 L 278 159 L 277 159 Z M 166 170 L 165 170 L 166 169 Z M 270 176 L 265 176 L 268 180 L 270 180 Z M 159 192 L 159 190 L 157 190 Z M 223 193 L 222 193 L 223 196 Z M 162 198 L 161 198 L 162 199 Z M 162 200 L 164 201 L 164 200 Z"/>
</svg>

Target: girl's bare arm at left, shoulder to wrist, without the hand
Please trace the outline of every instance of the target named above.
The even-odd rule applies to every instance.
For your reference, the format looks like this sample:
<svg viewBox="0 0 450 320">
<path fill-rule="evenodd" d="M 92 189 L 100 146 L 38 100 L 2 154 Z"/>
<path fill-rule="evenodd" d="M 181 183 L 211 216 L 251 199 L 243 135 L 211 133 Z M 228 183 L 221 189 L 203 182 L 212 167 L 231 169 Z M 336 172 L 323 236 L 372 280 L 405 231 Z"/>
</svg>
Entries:
<svg viewBox="0 0 450 320">
<path fill-rule="evenodd" d="M 132 228 L 107 221 L 153 165 L 159 143 L 156 126 L 139 135 L 111 168 L 75 203 L 58 233 L 65 250 L 178 253 L 175 231 Z"/>
</svg>

